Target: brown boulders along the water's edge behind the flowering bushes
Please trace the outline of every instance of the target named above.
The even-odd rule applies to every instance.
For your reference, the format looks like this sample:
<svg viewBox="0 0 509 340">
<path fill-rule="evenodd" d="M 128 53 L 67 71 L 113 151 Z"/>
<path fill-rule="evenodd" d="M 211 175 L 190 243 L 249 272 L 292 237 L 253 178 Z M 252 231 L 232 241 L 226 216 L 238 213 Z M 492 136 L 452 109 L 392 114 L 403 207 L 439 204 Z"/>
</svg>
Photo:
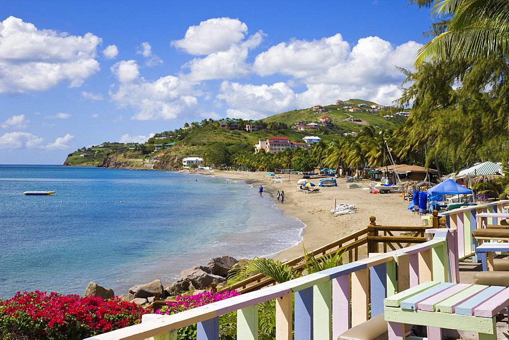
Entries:
<svg viewBox="0 0 509 340">
<path fill-rule="evenodd" d="M 178 279 L 169 285 L 163 286 L 161 280 L 157 279 L 147 284 L 134 285 L 128 293 L 118 295 L 118 297 L 122 301 L 144 305 L 153 303 L 156 298 L 164 299 L 183 292 L 208 289 L 212 282 L 216 282 L 218 285 L 225 284 L 228 273 L 238 262 L 231 256 L 213 258 L 206 266 L 195 266 L 181 271 Z M 101 287 L 92 281 L 84 295 L 100 296 L 103 299 L 116 296 L 111 288 Z"/>
</svg>

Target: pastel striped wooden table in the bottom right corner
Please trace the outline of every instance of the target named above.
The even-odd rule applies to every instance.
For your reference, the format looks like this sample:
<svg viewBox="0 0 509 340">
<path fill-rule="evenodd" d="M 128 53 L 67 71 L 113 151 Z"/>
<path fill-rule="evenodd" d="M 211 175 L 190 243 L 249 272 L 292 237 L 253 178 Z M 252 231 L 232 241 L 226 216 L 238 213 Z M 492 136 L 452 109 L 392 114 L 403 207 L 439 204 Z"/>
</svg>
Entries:
<svg viewBox="0 0 509 340">
<path fill-rule="evenodd" d="M 496 315 L 509 305 L 509 288 L 428 281 L 384 299 L 389 339 L 404 339 L 404 324 L 427 326 L 429 339 L 441 329 L 479 333 L 496 340 Z"/>
</svg>

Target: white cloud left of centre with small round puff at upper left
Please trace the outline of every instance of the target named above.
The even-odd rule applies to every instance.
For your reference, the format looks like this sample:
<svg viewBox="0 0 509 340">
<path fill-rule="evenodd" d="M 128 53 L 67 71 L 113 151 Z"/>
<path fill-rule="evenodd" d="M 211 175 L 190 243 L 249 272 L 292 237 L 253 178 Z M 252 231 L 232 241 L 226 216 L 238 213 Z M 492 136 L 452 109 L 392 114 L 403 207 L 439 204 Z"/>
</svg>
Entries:
<svg viewBox="0 0 509 340">
<path fill-rule="evenodd" d="M 135 120 L 167 120 L 197 104 L 192 83 L 175 76 L 161 77 L 153 82 L 139 76 L 134 61 L 123 61 L 111 68 L 120 84 L 109 91 L 119 107 L 136 110 Z"/>
</svg>

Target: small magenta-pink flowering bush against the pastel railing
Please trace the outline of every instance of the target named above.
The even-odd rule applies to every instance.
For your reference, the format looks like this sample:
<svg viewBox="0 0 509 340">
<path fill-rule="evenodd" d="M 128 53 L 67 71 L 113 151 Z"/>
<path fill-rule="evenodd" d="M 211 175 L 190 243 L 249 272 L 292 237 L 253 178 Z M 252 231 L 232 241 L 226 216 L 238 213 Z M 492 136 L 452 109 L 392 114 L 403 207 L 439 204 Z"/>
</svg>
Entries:
<svg viewBox="0 0 509 340">
<path fill-rule="evenodd" d="M 167 307 L 156 310 L 156 314 L 175 314 L 179 311 L 204 306 L 206 304 L 228 299 L 240 295 L 237 291 L 224 291 L 223 293 L 203 292 L 196 295 L 179 295 L 177 302 L 166 302 Z"/>
</svg>

